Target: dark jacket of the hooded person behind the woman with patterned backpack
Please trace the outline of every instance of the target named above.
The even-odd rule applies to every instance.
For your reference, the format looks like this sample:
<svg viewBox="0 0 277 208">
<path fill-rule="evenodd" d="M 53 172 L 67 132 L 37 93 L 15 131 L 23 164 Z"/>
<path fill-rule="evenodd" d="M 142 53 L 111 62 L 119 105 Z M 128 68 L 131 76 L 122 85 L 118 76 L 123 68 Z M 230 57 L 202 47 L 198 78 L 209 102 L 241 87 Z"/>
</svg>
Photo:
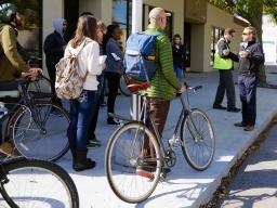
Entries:
<svg viewBox="0 0 277 208">
<path fill-rule="evenodd" d="M 57 32 L 54 31 L 50 34 L 44 41 L 44 53 L 48 69 L 54 69 L 56 63 L 64 57 L 64 38 Z"/>
</svg>

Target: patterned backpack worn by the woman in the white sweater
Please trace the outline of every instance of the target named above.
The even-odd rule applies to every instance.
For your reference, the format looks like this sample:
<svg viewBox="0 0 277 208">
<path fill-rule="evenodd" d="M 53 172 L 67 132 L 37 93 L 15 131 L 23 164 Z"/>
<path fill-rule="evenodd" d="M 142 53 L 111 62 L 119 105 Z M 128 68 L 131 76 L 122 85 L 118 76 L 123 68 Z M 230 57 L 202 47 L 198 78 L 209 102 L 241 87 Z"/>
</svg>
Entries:
<svg viewBox="0 0 277 208">
<path fill-rule="evenodd" d="M 56 95 L 60 99 L 77 99 L 82 92 L 83 82 L 85 80 L 85 76 L 81 76 L 78 70 L 78 54 L 82 51 L 82 49 L 89 43 L 88 39 L 82 43 L 83 46 L 76 54 L 70 53 L 60 60 L 56 64 L 56 81 L 55 81 L 55 91 Z"/>
</svg>

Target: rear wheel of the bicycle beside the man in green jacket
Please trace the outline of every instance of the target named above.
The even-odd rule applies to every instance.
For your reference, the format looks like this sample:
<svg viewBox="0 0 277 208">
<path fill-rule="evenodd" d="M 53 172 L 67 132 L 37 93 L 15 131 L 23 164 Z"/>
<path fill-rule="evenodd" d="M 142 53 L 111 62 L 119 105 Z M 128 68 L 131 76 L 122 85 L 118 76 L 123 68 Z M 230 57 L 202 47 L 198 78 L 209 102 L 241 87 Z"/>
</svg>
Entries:
<svg viewBox="0 0 277 208">
<path fill-rule="evenodd" d="M 159 144 L 143 125 L 130 122 L 110 138 L 106 172 L 114 193 L 127 203 L 141 203 L 156 188 L 161 171 Z"/>
</svg>

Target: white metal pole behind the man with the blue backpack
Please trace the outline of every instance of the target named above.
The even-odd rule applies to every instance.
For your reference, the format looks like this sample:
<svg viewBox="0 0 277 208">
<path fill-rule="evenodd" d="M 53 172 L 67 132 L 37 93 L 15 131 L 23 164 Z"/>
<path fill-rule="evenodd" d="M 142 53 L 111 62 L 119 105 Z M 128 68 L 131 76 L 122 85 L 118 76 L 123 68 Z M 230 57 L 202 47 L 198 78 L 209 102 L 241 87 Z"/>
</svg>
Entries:
<svg viewBox="0 0 277 208">
<path fill-rule="evenodd" d="M 142 30 L 143 23 L 143 0 L 132 0 L 132 34 Z M 133 119 L 138 119 L 141 112 L 141 96 L 132 95 L 132 116 Z"/>
</svg>

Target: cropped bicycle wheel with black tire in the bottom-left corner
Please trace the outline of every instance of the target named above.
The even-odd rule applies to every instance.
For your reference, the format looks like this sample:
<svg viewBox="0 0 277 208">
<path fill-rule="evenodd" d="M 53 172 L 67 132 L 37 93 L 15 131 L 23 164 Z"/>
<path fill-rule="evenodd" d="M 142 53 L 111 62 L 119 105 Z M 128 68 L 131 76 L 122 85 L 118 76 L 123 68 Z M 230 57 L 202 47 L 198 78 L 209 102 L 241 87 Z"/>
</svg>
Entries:
<svg viewBox="0 0 277 208">
<path fill-rule="evenodd" d="M 19 208 L 79 207 L 79 196 L 72 179 L 55 164 L 15 159 L 2 164 L 1 169 L 9 180 L 1 183 L 3 197 Z M 16 206 L 9 206 L 3 198 L 0 199 L 0 207 Z"/>
</svg>

